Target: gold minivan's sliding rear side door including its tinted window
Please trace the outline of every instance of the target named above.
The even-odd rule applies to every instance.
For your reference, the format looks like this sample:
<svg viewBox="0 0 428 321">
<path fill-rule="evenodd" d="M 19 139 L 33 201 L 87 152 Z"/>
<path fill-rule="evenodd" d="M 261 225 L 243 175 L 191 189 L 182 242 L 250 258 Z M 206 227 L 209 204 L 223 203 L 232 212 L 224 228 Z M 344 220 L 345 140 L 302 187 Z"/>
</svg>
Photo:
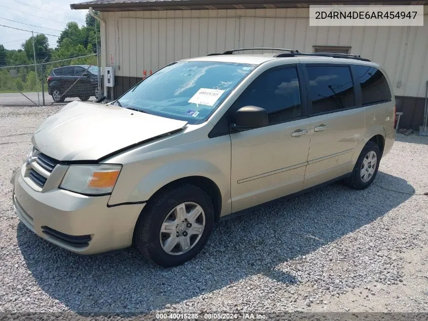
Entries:
<svg viewBox="0 0 428 321">
<path fill-rule="evenodd" d="M 365 130 L 349 66 L 308 64 L 306 69 L 310 147 L 304 189 L 346 174 Z"/>
</svg>

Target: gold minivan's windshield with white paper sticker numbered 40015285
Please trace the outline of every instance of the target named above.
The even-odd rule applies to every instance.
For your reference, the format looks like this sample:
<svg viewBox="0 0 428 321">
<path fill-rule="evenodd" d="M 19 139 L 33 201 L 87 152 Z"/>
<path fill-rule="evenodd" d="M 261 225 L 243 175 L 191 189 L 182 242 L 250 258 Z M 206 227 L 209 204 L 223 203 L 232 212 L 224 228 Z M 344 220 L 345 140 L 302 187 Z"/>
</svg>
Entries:
<svg viewBox="0 0 428 321">
<path fill-rule="evenodd" d="M 202 123 L 255 67 L 244 63 L 179 61 L 138 83 L 115 104 L 189 124 Z"/>
</svg>

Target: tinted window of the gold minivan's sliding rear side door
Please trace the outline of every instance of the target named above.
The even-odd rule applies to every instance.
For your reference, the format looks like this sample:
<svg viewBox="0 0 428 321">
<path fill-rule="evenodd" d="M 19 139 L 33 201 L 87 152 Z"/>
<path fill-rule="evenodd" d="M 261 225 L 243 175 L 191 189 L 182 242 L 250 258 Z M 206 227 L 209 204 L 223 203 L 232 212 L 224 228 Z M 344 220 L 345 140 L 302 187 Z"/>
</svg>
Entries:
<svg viewBox="0 0 428 321">
<path fill-rule="evenodd" d="M 348 66 L 307 66 L 312 114 L 332 112 L 355 105 L 354 86 Z"/>
</svg>

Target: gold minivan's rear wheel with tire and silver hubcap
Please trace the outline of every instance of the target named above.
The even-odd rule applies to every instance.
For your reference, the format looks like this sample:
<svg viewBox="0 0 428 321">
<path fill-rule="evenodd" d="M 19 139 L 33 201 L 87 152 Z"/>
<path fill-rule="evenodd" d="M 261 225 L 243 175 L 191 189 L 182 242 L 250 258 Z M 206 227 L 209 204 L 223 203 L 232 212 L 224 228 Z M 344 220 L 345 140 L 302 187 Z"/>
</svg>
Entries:
<svg viewBox="0 0 428 321">
<path fill-rule="evenodd" d="M 376 177 L 381 156 L 379 146 L 373 141 L 368 141 L 358 157 L 351 176 L 344 180 L 345 184 L 356 190 L 369 187 Z"/>
</svg>

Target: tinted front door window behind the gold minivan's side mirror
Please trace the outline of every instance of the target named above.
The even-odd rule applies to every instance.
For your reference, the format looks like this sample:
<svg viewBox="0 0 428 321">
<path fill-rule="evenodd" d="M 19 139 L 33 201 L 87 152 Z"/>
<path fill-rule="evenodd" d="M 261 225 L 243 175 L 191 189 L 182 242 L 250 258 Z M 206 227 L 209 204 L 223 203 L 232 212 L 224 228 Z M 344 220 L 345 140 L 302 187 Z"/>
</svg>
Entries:
<svg viewBox="0 0 428 321">
<path fill-rule="evenodd" d="M 264 108 L 269 124 L 301 116 L 299 79 L 294 67 L 267 70 L 242 93 L 238 108 L 243 106 Z"/>
</svg>

